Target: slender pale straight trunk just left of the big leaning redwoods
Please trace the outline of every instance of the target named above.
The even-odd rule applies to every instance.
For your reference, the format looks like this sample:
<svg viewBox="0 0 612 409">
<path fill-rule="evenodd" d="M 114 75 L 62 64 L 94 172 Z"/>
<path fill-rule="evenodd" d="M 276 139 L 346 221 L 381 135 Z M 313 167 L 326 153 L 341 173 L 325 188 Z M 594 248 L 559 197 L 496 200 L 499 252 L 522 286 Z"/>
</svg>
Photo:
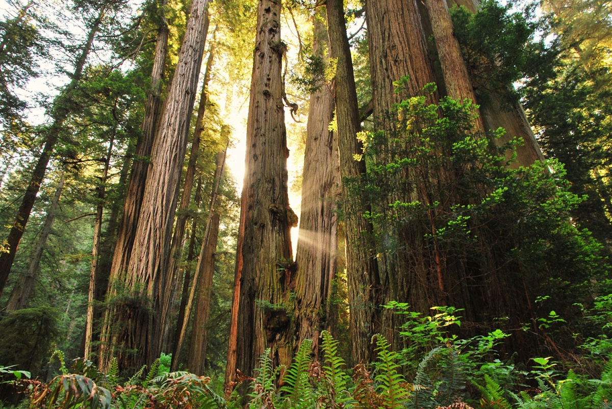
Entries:
<svg viewBox="0 0 612 409">
<path fill-rule="evenodd" d="M 92 341 L 94 340 L 94 317 L 96 312 L 95 295 L 97 293 L 97 284 L 100 281 L 97 274 L 99 273 L 100 263 L 100 243 L 102 240 L 102 216 L 104 211 L 104 200 L 106 199 L 106 179 L 108 179 L 108 169 L 111 164 L 111 155 L 113 155 L 114 138 L 117 133 L 117 128 L 114 128 L 113 136 L 108 142 L 108 152 L 106 152 L 106 160 L 100 177 L 100 185 L 97 187 L 97 207 L 95 210 L 94 221 L 94 243 L 91 250 L 91 268 L 89 269 L 89 292 L 87 300 L 87 315 L 85 318 L 85 350 L 84 359 L 91 359 L 93 352 Z"/>
</svg>

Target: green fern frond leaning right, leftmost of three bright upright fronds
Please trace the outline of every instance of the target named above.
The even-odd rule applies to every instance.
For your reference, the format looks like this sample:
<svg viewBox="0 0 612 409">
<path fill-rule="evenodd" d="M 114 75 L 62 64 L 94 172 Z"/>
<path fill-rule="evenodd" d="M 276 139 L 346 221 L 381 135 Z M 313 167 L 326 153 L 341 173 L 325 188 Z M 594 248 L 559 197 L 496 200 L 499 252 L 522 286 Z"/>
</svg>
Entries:
<svg viewBox="0 0 612 409">
<path fill-rule="evenodd" d="M 309 382 L 310 372 L 308 372 L 311 350 L 312 341 L 310 339 L 302 341 L 291 367 L 283 376 L 283 386 L 280 392 L 287 394 L 286 400 L 292 408 L 310 407 L 313 404 L 314 394 Z"/>
</svg>

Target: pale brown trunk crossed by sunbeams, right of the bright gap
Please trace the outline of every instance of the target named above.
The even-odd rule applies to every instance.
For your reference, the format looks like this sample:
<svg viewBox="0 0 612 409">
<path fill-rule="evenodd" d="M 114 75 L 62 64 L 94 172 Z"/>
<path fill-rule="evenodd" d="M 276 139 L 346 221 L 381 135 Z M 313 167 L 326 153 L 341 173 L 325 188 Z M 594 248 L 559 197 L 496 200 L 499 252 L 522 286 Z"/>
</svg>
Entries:
<svg viewBox="0 0 612 409">
<path fill-rule="evenodd" d="M 318 7 L 314 18 L 313 54 L 330 54 L 325 7 Z M 337 201 L 340 196 L 340 162 L 337 132 L 329 130 L 334 119 L 334 94 L 330 84 L 320 84 L 310 95 L 304 174 L 302 177 L 302 212 L 296 252 L 296 326 L 297 350 L 304 339 L 312 339 L 318 349 L 319 331 L 329 318 L 326 309 L 331 283 L 335 277 L 338 250 Z"/>
</svg>

